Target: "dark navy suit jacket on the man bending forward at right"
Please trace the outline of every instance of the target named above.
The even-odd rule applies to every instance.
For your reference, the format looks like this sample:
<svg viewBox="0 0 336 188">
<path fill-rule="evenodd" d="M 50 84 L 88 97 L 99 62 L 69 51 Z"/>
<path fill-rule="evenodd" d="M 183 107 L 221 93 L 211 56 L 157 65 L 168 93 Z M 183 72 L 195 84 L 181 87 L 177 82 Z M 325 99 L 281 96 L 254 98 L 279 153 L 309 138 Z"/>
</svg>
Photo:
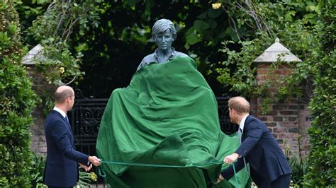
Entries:
<svg viewBox="0 0 336 188">
<path fill-rule="evenodd" d="M 291 174 L 289 162 L 266 124 L 251 115 L 245 119 L 242 144 L 235 153 L 242 156 L 235 163 L 235 169 L 239 171 L 245 167 L 244 157 L 246 163 L 250 163 L 251 177 L 258 186 L 262 182 L 272 182 L 281 175 Z M 234 175 L 233 166 L 221 174 L 229 180 Z"/>
</svg>

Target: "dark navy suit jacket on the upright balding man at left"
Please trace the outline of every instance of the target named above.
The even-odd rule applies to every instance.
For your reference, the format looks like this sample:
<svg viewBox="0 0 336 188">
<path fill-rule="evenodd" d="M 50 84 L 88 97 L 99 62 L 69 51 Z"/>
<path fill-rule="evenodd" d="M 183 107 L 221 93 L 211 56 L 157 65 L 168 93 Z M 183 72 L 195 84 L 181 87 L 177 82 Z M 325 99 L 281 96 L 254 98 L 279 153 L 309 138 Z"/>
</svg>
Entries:
<svg viewBox="0 0 336 188">
<path fill-rule="evenodd" d="M 89 155 L 75 150 L 70 124 L 60 112 L 52 110 L 45 119 L 45 140 L 47 162 L 43 182 L 48 186 L 74 186 L 79 178 L 78 163 L 87 165 Z"/>
</svg>

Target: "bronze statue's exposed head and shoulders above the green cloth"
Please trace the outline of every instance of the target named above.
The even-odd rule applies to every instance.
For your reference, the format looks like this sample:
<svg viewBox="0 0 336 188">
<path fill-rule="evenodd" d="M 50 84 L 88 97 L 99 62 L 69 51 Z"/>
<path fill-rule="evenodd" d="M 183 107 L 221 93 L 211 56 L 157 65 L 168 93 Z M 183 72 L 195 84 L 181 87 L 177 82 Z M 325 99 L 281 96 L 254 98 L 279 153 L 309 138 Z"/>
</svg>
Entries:
<svg viewBox="0 0 336 188">
<path fill-rule="evenodd" d="M 177 38 L 177 31 L 171 20 L 157 20 L 152 28 L 152 38 L 157 44 L 157 49 L 142 59 L 137 71 L 151 62 L 161 64 L 174 57 L 189 57 L 187 54 L 175 51 L 172 47 L 172 42 Z"/>
</svg>

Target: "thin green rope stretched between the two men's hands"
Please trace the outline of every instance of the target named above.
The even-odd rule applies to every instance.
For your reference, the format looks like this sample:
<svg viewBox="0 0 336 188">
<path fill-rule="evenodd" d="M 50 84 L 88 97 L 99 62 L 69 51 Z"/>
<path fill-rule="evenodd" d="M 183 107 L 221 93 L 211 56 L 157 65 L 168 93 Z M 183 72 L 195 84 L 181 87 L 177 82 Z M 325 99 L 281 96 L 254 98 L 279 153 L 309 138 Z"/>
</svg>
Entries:
<svg viewBox="0 0 336 188">
<path fill-rule="evenodd" d="M 149 163 L 128 163 L 128 162 L 116 162 L 116 161 L 107 161 L 107 160 L 101 160 L 101 163 L 113 164 L 113 165 L 132 165 L 132 166 L 142 166 L 142 167 L 151 167 L 151 168 L 192 168 L 192 167 L 201 167 L 201 166 L 206 166 L 206 165 L 223 164 L 223 161 L 214 161 L 211 163 L 203 163 L 203 164 L 198 164 L 198 165 L 187 165 L 187 166 L 185 165 L 184 166 L 182 165 L 157 165 L 157 164 L 149 164 Z M 106 174 L 105 172 L 103 172 L 101 167 L 99 167 L 98 169 L 99 169 L 99 175 L 101 177 L 106 177 Z M 233 163 L 233 172 L 235 172 L 234 163 Z M 236 172 L 235 172 L 235 183 L 236 183 L 236 187 L 239 187 Z"/>
</svg>

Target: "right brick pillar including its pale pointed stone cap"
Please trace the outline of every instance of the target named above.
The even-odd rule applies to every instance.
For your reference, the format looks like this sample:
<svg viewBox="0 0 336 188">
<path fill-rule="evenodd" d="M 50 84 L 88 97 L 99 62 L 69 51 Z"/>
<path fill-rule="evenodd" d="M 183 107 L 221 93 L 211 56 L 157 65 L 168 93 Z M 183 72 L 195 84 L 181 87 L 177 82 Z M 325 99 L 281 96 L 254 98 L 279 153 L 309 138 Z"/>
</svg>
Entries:
<svg viewBox="0 0 336 188">
<path fill-rule="evenodd" d="M 276 69 L 271 68 L 271 62 L 275 62 L 283 56 L 283 62 Z M 279 56 L 280 55 L 280 56 Z M 283 54 L 282 54 L 283 55 Z M 254 60 L 257 66 L 257 85 L 262 85 L 267 81 L 279 81 L 284 76 L 289 76 L 293 71 L 292 67 L 286 61 L 301 61 L 289 52 L 276 39 L 274 45 L 271 45 L 265 52 Z M 279 83 L 281 85 L 281 83 Z M 309 86 L 305 85 L 305 87 Z M 310 85 L 311 86 L 311 85 Z M 276 88 L 270 88 L 269 92 L 274 94 Z M 291 157 L 301 156 L 305 158 L 309 152 L 309 142 L 307 128 L 310 126 L 310 112 L 308 110 L 308 95 L 304 93 L 303 98 L 293 98 L 288 102 L 271 103 L 271 111 L 262 114 L 262 98 L 254 95 L 250 98 L 251 114 L 261 119 L 269 131 L 274 135 L 281 148 L 289 147 Z M 300 149 L 299 149 L 300 144 Z"/>
</svg>

